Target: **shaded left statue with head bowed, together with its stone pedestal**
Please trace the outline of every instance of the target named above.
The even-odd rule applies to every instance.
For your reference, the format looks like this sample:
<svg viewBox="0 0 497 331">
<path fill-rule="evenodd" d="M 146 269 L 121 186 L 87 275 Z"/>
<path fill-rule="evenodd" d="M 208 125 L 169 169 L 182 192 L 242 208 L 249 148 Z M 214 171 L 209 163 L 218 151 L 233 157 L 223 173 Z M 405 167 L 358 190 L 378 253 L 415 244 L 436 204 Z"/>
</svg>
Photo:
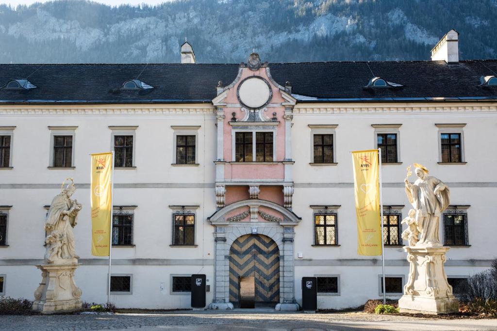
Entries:
<svg viewBox="0 0 497 331">
<path fill-rule="evenodd" d="M 71 199 L 75 191 L 73 179 L 66 178 L 61 193 L 55 196 L 48 210 L 44 263 L 36 265 L 42 280 L 34 292 L 32 308 L 44 314 L 76 311 L 82 307 L 82 291 L 74 282 L 74 273 L 80 264 L 73 228 L 78 224 L 78 213 L 83 206 Z"/>
</svg>

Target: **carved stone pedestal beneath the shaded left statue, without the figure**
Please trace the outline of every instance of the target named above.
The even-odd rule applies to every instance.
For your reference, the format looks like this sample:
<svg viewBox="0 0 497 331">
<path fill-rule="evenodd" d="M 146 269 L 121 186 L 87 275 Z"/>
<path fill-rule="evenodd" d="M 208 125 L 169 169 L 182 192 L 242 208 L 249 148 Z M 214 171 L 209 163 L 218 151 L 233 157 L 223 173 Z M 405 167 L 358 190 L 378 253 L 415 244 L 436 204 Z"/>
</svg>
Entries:
<svg viewBox="0 0 497 331">
<path fill-rule="evenodd" d="M 34 292 L 33 310 L 43 314 L 70 312 L 82 307 L 81 289 L 74 283 L 74 271 L 81 265 L 74 259 L 71 264 L 37 265 L 42 280 Z"/>
</svg>

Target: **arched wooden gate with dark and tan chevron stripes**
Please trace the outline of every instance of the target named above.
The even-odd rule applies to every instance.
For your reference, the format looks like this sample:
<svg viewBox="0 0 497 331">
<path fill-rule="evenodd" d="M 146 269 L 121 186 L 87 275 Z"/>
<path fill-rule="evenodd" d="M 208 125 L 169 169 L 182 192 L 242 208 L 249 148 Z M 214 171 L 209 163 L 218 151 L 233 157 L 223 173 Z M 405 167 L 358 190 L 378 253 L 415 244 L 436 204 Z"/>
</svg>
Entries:
<svg viewBox="0 0 497 331">
<path fill-rule="evenodd" d="M 252 234 L 239 237 L 230 248 L 230 302 L 240 305 L 241 277 L 254 277 L 256 306 L 274 307 L 279 302 L 279 271 L 274 240 Z"/>
</svg>

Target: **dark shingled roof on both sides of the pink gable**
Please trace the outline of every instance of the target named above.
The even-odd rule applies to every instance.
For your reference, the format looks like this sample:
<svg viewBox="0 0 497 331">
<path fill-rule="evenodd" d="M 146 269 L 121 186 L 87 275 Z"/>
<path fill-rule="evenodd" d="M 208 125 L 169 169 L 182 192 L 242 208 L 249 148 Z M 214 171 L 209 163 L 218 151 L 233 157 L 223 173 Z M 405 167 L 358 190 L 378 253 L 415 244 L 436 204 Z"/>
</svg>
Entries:
<svg viewBox="0 0 497 331">
<path fill-rule="evenodd" d="M 369 67 L 368 67 L 369 66 Z M 218 81 L 230 84 L 236 64 L 66 64 L 0 65 L 0 86 L 28 79 L 30 90 L 0 89 L 0 103 L 199 103 L 216 96 Z M 497 100 L 497 87 L 481 87 L 480 77 L 496 75 L 497 60 L 414 62 L 321 62 L 269 64 L 275 81 L 289 81 L 307 102 Z M 372 73 L 372 72 L 373 73 Z M 373 77 L 401 88 L 364 88 Z M 129 79 L 153 89 L 123 90 Z"/>
</svg>

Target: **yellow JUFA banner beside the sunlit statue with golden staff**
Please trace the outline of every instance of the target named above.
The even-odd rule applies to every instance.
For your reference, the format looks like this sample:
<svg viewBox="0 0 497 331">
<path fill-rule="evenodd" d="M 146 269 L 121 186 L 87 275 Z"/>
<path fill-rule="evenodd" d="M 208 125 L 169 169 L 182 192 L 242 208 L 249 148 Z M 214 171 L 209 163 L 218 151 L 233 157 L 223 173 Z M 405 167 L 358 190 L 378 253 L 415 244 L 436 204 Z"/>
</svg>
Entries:
<svg viewBox="0 0 497 331">
<path fill-rule="evenodd" d="M 378 150 L 352 152 L 354 164 L 357 254 L 381 255 L 380 181 Z"/>
</svg>

